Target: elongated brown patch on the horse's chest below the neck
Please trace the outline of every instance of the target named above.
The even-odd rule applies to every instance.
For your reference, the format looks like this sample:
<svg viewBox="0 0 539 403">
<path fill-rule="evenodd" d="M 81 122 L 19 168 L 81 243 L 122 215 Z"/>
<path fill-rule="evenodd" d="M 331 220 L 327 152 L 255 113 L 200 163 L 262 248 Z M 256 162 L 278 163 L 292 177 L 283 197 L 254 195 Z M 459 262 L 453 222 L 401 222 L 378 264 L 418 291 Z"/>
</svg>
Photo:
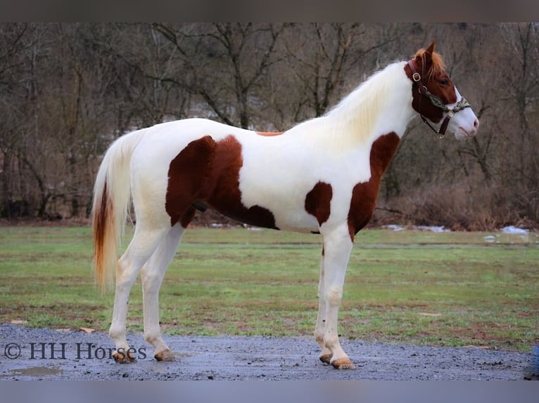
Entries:
<svg viewBox="0 0 539 403">
<path fill-rule="evenodd" d="M 352 240 L 355 234 L 369 223 L 374 214 L 381 177 L 395 156 L 399 143 L 399 136 L 391 132 L 380 136 L 372 144 L 371 178 L 368 182 L 357 183 L 352 191 L 350 211 L 348 211 L 348 231 Z"/>
</svg>

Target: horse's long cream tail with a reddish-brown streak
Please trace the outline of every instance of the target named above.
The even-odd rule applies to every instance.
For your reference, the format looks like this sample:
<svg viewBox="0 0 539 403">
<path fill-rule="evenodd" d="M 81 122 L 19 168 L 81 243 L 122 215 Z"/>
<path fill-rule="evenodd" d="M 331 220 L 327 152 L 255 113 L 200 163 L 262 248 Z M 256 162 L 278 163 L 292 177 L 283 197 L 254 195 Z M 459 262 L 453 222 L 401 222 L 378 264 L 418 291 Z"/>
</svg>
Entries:
<svg viewBox="0 0 539 403">
<path fill-rule="evenodd" d="M 94 275 L 101 291 L 110 289 L 118 262 L 118 244 L 125 228 L 131 200 L 129 165 L 144 131 L 134 131 L 115 140 L 108 148 L 94 185 L 92 220 Z"/>
</svg>

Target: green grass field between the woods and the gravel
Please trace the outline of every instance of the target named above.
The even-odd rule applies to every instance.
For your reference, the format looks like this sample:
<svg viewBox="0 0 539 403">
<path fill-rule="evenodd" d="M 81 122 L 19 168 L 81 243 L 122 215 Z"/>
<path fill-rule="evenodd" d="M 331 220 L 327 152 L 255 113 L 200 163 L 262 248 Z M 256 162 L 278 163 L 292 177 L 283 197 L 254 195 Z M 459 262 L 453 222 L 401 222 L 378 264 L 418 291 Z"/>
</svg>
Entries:
<svg viewBox="0 0 539 403">
<path fill-rule="evenodd" d="M 311 336 L 319 242 L 189 230 L 161 288 L 163 331 Z M 89 227 L 0 227 L 0 323 L 107 330 L 112 304 L 94 285 Z M 129 331 L 141 331 L 141 307 L 137 282 Z M 364 341 L 529 351 L 539 344 L 539 234 L 360 232 L 339 324 Z"/>
</svg>

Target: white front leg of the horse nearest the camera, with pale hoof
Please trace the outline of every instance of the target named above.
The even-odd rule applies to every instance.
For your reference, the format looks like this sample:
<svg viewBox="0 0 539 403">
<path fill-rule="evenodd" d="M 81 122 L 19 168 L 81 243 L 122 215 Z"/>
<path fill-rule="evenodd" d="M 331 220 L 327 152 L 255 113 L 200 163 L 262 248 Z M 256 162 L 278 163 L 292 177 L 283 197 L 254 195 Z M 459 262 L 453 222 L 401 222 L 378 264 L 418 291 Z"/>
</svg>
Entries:
<svg viewBox="0 0 539 403">
<path fill-rule="evenodd" d="M 352 239 L 348 232 L 348 226 L 343 225 L 336 230 L 322 234 L 324 239 L 323 267 L 321 267 L 320 282 L 323 283 L 321 302 L 319 307 L 319 321 L 324 328 L 324 338 L 322 354 L 320 359 L 327 362 L 327 357 L 331 354 L 329 364 L 336 369 L 355 369 L 353 362 L 341 348 L 338 341 L 337 322 L 338 308 L 343 298 L 343 286 L 346 273 L 346 266 L 352 251 Z M 322 298 L 324 299 L 322 301 Z M 325 305 L 325 322 L 320 318 L 322 303 Z M 319 323 L 317 322 L 317 326 Z M 317 334 L 319 337 L 319 334 Z"/>
</svg>

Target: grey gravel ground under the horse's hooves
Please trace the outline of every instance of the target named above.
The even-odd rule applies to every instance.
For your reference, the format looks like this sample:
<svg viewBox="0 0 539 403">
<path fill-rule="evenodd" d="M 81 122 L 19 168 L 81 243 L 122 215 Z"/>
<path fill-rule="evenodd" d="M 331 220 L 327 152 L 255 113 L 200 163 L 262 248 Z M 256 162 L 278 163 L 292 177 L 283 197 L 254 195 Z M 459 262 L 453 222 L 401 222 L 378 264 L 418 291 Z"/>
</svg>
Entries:
<svg viewBox="0 0 539 403">
<path fill-rule="evenodd" d="M 134 364 L 110 359 L 106 333 L 0 324 L 0 380 L 524 380 L 536 379 L 532 352 L 429 348 L 342 340 L 355 371 L 318 360 L 311 338 L 166 336 L 174 362 L 156 362 L 140 334 Z"/>
</svg>

